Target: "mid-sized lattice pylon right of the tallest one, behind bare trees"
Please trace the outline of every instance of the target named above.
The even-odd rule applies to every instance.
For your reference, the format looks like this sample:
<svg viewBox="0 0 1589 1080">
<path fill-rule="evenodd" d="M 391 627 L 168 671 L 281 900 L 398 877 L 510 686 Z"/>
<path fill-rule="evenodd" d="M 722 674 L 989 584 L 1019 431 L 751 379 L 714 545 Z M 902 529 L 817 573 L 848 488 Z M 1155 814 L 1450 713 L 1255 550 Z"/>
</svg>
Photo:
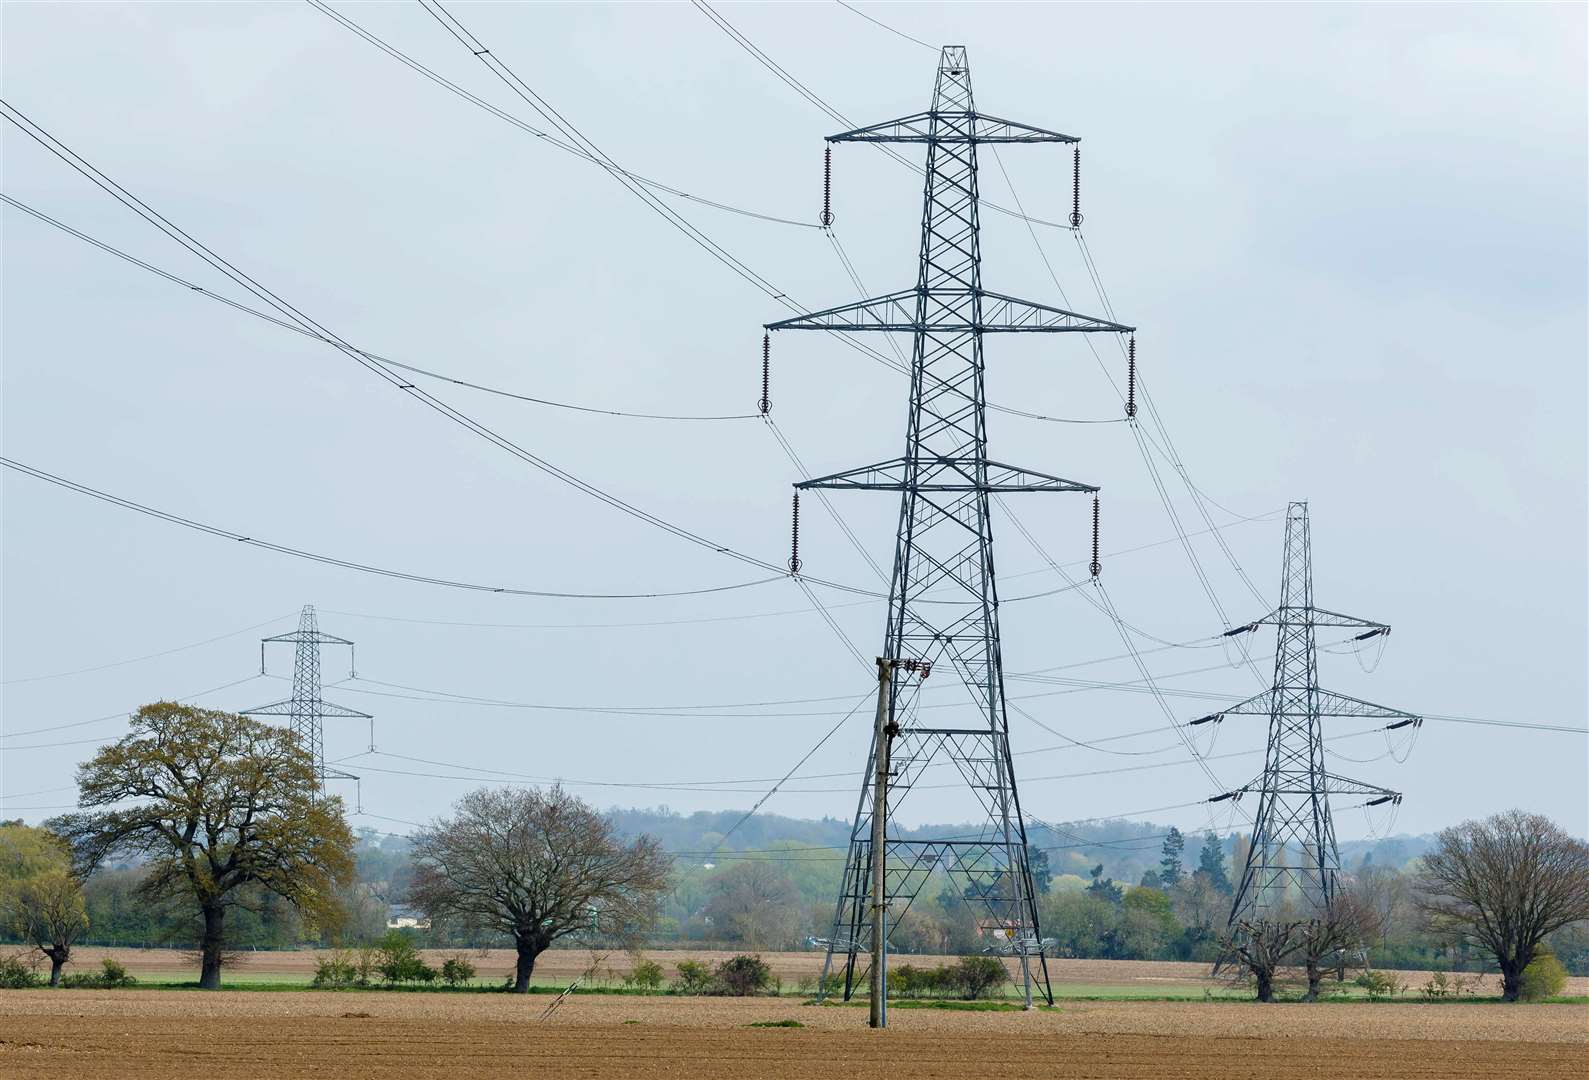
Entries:
<svg viewBox="0 0 1589 1080">
<path fill-rule="evenodd" d="M 1278 631 L 1274 686 L 1239 705 L 1192 721 L 1208 724 L 1225 716 L 1270 718 L 1263 775 L 1246 788 L 1216 796 L 1219 800 L 1258 791 L 1252 845 L 1247 848 L 1227 921 L 1231 934 L 1239 932 L 1243 924 L 1255 926 L 1273 920 L 1282 908 L 1309 920 L 1320 920 L 1328 913 L 1341 874 L 1330 796 L 1367 796 L 1365 805 L 1401 802 L 1397 791 L 1325 769 L 1320 718 L 1389 719 L 1387 731 L 1422 724 L 1422 718 L 1414 713 L 1319 688 L 1317 629 L 1355 629 L 1359 634 L 1352 640 L 1362 642 L 1389 634 L 1390 627 L 1314 607 L 1306 502 L 1293 502 L 1286 508 L 1286 565 L 1279 608 L 1255 623 L 1228 631 L 1227 637 L 1251 634 L 1260 626 Z"/>
</svg>

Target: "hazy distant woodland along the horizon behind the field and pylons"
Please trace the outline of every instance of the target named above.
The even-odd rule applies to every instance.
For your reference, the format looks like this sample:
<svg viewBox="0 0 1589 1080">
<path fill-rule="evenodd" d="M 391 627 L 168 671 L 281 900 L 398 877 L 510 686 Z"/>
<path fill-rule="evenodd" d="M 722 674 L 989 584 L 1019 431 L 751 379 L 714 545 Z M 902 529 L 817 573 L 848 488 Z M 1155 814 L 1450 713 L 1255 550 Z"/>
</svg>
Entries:
<svg viewBox="0 0 1589 1080">
<path fill-rule="evenodd" d="M 617 810 L 626 835 L 650 834 L 679 856 L 651 943 L 787 950 L 826 937 L 844 869 L 850 824 L 834 818 L 802 821 L 758 815 L 725 834 L 737 812 L 680 815 Z M 1239 872 L 1246 837 L 1185 834 L 1139 821 L 1065 824 L 1061 832 L 1028 832 L 1039 889 L 1042 935 L 1050 953 L 1108 959 L 1211 961 L 1230 910 L 1230 883 Z M 965 832 L 931 826 L 922 834 Z M 1354 888 L 1381 907 L 1384 932 L 1373 948 L 1381 967 L 1478 970 L 1481 958 L 1422 929 L 1414 908 L 1416 859 L 1430 837 L 1347 843 L 1343 867 Z M 721 850 L 718 847 L 721 845 Z M 408 842 L 364 829 L 358 835 L 358 883 L 345 897 L 348 923 L 334 935 L 307 934 L 291 907 L 257 894 L 234 910 L 230 948 L 294 948 L 303 943 L 358 943 L 380 939 L 405 905 L 412 878 Z M 175 945 L 197 939 L 191 915 L 135 894 L 135 866 L 94 875 L 84 886 L 89 932 L 84 943 Z M 483 947 L 505 940 L 432 926 L 410 932 L 418 945 Z M 980 951 L 969 907 L 947 875 L 934 875 L 896 926 L 906 953 Z M 1572 926 L 1552 950 L 1575 974 L 1589 974 L 1589 929 Z"/>
</svg>

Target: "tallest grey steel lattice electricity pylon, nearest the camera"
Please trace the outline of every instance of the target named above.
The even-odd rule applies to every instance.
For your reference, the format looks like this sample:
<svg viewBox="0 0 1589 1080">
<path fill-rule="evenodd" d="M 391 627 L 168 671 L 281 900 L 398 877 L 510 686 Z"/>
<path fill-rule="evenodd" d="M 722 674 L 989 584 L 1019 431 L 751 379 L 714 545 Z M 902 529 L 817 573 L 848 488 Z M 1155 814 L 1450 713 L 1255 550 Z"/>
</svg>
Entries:
<svg viewBox="0 0 1589 1080">
<path fill-rule="evenodd" d="M 982 338 L 987 334 L 1130 332 L 1131 327 L 982 287 L 977 146 L 1076 141 L 1058 132 L 979 114 L 972 106 L 966 51 L 945 46 L 930 111 L 828 137 L 828 143 L 926 146 L 915 287 L 766 324 L 769 332 L 893 332 L 914 340 L 904 454 L 796 484 L 796 491 L 901 494 L 883 632 L 883 661 L 891 672 L 888 716 L 887 724 L 879 726 L 893 732 L 891 748 L 885 748 L 891 750 L 891 797 L 883 813 L 883 851 L 874 850 L 872 791 L 871 783 L 863 781 L 823 964 L 825 986 L 834 961 L 844 964 L 845 997 L 858 982 L 856 958 L 871 951 L 869 881 L 872 859 L 883 858 L 890 928 L 899 926 L 934 869 L 944 869 L 971 905 L 982 943 L 1015 958 L 1026 1004 L 1031 1004 L 1034 980 L 1042 996 L 1054 1001 L 1009 756 L 988 497 L 1015 491 L 1096 492 L 1098 488 L 988 461 Z M 798 562 L 791 561 L 791 569 L 798 570 Z M 936 713 L 938 721 L 931 724 L 901 716 L 909 712 L 901 710 L 910 692 L 906 661 L 917 669 L 947 669 L 958 675 L 969 699 L 955 705 L 961 710 L 961 723 L 955 723 L 953 712 Z M 874 734 L 863 773 L 868 780 L 877 761 L 877 739 Z M 907 802 L 922 770 L 938 758 L 953 762 L 985 813 L 979 835 L 906 837 L 896 829 L 899 805 Z M 969 802 L 968 807 L 977 812 Z"/>
</svg>

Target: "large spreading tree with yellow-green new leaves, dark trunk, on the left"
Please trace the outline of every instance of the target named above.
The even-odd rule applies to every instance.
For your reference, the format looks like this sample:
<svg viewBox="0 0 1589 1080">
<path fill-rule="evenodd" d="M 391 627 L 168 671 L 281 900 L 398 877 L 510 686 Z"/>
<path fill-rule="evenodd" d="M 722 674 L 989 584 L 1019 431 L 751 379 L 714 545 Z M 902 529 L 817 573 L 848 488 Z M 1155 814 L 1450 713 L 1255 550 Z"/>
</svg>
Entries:
<svg viewBox="0 0 1589 1080">
<path fill-rule="evenodd" d="M 78 769 L 81 813 L 52 827 L 81 874 L 108 858 L 145 859 L 138 894 L 197 908 L 200 977 L 221 986 L 227 912 L 257 886 L 310 924 L 342 918 L 353 880 L 353 835 L 342 800 L 319 797 L 308 751 L 284 727 L 157 702 Z"/>
</svg>

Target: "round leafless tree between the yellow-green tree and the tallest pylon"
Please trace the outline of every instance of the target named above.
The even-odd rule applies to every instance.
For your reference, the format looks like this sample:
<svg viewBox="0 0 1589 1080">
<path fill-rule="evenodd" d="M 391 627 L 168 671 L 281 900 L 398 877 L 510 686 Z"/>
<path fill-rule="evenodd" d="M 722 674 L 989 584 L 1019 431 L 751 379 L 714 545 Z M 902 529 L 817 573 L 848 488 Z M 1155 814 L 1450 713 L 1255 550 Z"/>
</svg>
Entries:
<svg viewBox="0 0 1589 1080">
<path fill-rule="evenodd" d="M 451 818 L 415 835 L 413 859 L 410 902 L 432 920 L 510 935 L 521 994 L 535 958 L 561 937 L 636 940 L 656 918 L 672 866 L 656 840 L 621 843 L 561 786 L 470 791 Z"/>
</svg>

